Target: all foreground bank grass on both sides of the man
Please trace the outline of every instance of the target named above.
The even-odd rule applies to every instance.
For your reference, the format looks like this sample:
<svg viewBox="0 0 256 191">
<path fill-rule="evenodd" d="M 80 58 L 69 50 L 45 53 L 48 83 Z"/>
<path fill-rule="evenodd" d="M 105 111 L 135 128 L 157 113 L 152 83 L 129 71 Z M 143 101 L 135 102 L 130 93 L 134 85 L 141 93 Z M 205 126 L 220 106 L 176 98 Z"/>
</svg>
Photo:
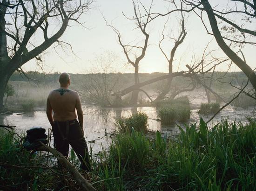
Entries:
<svg viewBox="0 0 256 191">
<path fill-rule="evenodd" d="M 256 121 L 222 121 L 180 128 L 175 139 L 156 132 L 117 134 L 108 149 L 91 157 L 97 190 L 255 190 Z M 44 157 L 44 158 L 42 158 Z M 47 155 L 33 155 L 11 132 L 0 134 L 1 190 L 72 190 L 79 188 L 68 174 L 45 166 Z M 74 152 L 70 160 L 77 164 Z M 78 164 L 77 164 L 78 165 Z M 88 175 L 85 177 L 88 178 Z M 61 185 L 61 186 L 60 186 Z"/>
</svg>

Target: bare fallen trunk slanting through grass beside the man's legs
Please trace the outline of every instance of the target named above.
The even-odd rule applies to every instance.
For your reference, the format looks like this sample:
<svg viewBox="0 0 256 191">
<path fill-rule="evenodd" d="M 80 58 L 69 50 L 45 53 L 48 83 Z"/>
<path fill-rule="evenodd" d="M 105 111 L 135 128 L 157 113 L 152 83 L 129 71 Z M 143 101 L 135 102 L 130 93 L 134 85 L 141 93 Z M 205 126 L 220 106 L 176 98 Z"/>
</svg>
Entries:
<svg viewBox="0 0 256 191">
<path fill-rule="evenodd" d="M 41 146 L 37 150 L 50 152 L 56 157 L 62 166 L 66 167 L 67 170 L 73 175 L 79 185 L 86 191 L 96 191 L 96 189 L 88 183 L 88 181 L 78 172 L 78 170 L 56 149 L 44 145 L 39 141 Z"/>
</svg>

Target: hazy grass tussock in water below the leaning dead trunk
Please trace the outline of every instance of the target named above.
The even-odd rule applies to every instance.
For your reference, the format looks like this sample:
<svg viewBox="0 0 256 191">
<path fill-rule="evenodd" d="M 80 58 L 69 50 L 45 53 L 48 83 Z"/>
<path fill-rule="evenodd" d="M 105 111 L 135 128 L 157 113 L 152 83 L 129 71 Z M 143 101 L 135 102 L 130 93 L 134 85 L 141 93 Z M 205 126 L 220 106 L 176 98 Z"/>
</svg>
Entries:
<svg viewBox="0 0 256 191">
<path fill-rule="evenodd" d="M 190 118 L 189 99 L 179 97 L 170 102 L 162 101 L 158 103 L 160 108 L 157 109 L 157 115 L 163 125 L 170 125 L 175 121 L 185 122 Z"/>
</svg>

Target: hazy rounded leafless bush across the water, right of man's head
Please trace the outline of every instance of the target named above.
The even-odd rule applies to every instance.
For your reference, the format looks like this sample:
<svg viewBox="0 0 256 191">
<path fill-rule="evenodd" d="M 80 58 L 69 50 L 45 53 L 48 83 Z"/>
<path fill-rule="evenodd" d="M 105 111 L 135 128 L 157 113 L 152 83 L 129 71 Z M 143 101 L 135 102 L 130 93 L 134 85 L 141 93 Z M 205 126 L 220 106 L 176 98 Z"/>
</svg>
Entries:
<svg viewBox="0 0 256 191">
<path fill-rule="evenodd" d="M 89 104 L 120 106 L 111 94 L 121 87 L 121 73 L 115 71 L 120 59 L 114 52 L 106 51 L 95 58 L 97 66 L 82 79 L 81 97 Z"/>
</svg>

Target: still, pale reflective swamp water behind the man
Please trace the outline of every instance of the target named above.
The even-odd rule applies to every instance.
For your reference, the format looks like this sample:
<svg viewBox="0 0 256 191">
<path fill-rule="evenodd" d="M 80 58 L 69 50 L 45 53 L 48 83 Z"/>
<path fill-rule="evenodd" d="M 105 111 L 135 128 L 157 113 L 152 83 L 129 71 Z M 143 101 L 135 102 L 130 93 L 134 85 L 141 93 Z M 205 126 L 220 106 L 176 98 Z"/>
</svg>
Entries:
<svg viewBox="0 0 256 191">
<path fill-rule="evenodd" d="M 200 116 L 198 110 L 192 110 L 190 120 L 188 123 L 198 122 Z M 115 131 L 115 119 L 119 117 L 126 117 L 137 112 L 145 112 L 148 115 L 148 128 L 152 131 L 160 131 L 161 133 L 177 134 L 179 132 L 177 125 L 162 126 L 157 119 L 157 111 L 154 107 L 126 107 L 126 108 L 102 108 L 96 106 L 83 106 L 84 112 L 84 132 L 87 141 L 95 140 L 94 143 L 88 143 L 94 153 L 101 151 L 102 146 L 108 147 L 111 143 L 111 134 Z M 231 106 L 224 108 L 214 119 L 219 121 L 221 117 L 229 117 L 229 120 L 236 120 L 246 122 L 247 116 L 254 116 L 254 108 L 239 108 L 236 110 Z M 202 116 L 207 121 L 211 115 Z M 27 129 L 40 126 L 45 129 L 50 128 L 45 111 L 27 112 L 19 115 L 13 113 L 12 115 L 0 115 L 0 124 L 15 125 L 20 132 L 25 132 Z M 184 127 L 184 124 L 179 124 Z"/>
</svg>

